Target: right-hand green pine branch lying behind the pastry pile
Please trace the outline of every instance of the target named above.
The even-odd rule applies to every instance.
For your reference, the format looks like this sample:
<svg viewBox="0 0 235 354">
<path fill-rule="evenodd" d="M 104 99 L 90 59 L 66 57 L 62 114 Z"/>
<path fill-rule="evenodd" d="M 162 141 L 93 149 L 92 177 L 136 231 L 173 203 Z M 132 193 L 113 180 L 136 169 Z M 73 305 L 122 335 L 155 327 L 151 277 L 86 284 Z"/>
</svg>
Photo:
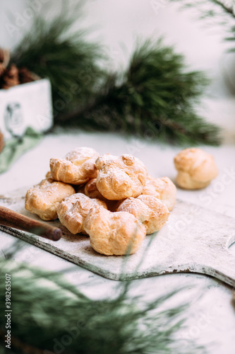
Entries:
<svg viewBox="0 0 235 354">
<path fill-rule="evenodd" d="M 207 79 L 186 72 L 181 55 L 161 41 L 139 45 L 122 74 L 110 75 L 85 108 L 57 123 L 135 134 L 171 144 L 219 144 L 219 128 L 195 113 Z"/>
</svg>

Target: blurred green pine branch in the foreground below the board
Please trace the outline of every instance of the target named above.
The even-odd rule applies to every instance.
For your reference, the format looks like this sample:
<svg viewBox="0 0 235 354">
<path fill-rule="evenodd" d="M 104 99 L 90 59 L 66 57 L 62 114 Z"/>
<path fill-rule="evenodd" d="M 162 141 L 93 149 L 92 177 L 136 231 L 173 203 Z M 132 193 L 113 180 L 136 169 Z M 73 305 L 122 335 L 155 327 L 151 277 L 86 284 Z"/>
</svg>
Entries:
<svg viewBox="0 0 235 354">
<path fill-rule="evenodd" d="M 109 354 L 111 348 L 112 354 L 205 353 L 193 341 L 175 339 L 186 309 L 166 309 L 165 303 L 175 292 L 145 304 L 139 298 L 131 298 L 124 286 L 115 299 L 98 301 L 83 295 L 57 273 L 4 259 L 0 265 L 1 313 L 6 308 L 6 273 L 11 274 L 11 343 L 16 354 L 37 354 L 42 350 Z M 6 344 L 5 321 L 1 316 L 0 353 Z"/>
</svg>

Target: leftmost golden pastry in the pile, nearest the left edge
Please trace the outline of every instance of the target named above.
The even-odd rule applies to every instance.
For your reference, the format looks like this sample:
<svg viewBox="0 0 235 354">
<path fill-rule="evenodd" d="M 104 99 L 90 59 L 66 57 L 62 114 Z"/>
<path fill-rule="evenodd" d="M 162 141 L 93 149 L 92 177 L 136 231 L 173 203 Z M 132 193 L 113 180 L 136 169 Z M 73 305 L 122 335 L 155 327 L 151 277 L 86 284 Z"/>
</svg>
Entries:
<svg viewBox="0 0 235 354">
<path fill-rule="evenodd" d="M 25 209 L 37 214 L 43 220 L 57 219 L 59 203 L 75 193 L 73 187 L 63 182 L 46 178 L 30 188 L 25 195 Z"/>
</svg>

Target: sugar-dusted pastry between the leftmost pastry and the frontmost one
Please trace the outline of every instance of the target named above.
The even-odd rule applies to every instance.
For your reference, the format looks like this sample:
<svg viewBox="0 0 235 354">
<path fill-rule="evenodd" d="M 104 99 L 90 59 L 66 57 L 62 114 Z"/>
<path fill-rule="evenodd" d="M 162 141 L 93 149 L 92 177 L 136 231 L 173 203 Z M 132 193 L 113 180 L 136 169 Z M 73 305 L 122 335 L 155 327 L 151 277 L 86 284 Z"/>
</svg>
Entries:
<svg viewBox="0 0 235 354">
<path fill-rule="evenodd" d="M 72 234 L 86 234 L 83 228 L 85 217 L 93 207 L 101 206 L 107 209 L 105 202 L 99 199 L 90 199 L 82 193 L 76 193 L 65 198 L 57 209 L 59 221 Z"/>
</svg>

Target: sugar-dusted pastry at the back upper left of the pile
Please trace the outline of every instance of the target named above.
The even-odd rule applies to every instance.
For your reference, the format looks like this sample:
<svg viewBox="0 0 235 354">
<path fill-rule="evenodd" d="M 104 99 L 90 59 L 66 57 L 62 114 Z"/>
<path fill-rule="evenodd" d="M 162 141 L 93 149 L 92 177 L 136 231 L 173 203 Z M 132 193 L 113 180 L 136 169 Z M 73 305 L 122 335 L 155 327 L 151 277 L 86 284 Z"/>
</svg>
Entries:
<svg viewBox="0 0 235 354">
<path fill-rule="evenodd" d="M 99 154 L 90 147 L 78 147 L 68 152 L 64 159 L 50 159 L 52 178 L 80 185 L 97 176 L 95 160 Z"/>
</svg>

